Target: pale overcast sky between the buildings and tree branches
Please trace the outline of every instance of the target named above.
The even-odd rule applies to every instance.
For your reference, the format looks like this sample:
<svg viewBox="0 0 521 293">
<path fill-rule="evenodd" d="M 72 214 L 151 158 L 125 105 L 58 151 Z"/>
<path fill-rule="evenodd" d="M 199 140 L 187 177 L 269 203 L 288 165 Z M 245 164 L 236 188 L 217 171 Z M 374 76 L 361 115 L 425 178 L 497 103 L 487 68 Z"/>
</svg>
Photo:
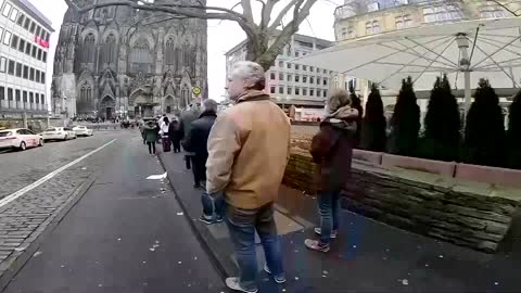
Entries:
<svg viewBox="0 0 521 293">
<path fill-rule="evenodd" d="M 51 52 L 53 60 L 54 51 L 60 34 L 60 26 L 63 22 L 63 15 L 67 9 L 64 0 L 29 0 L 40 12 L 42 12 L 51 22 L 55 33 L 51 36 Z M 231 0 L 208 0 L 208 5 L 230 8 Z M 256 3 L 256 1 L 254 1 Z M 281 1 L 279 7 L 283 7 L 285 1 Z M 313 37 L 334 40 L 333 34 L 333 11 L 342 0 L 318 0 L 312 9 L 307 22 L 301 25 L 298 34 Z M 259 14 L 255 8 L 256 14 Z M 208 22 L 208 84 L 209 98 L 221 100 L 225 93 L 226 80 L 226 60 L 225 52 L 231 49 L 245 38 L 242 29 L 232 22 L 209 21 Z M 49 71 L 52 72 L 52 64 L 49 63 Z M 48 86 L 51 85 L 52 74 L 48 74 Z M 51 97 L 48 94 L 48 97 Z"/>
</svg>

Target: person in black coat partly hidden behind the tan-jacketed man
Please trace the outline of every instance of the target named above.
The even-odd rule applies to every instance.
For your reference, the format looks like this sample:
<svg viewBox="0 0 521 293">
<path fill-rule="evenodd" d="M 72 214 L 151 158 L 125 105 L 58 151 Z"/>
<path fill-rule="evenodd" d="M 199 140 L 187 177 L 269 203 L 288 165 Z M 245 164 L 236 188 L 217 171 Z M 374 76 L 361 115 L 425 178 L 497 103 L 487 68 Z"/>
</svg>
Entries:
<svg viewBox="0 0 521 293">
<path fill-rule="evenodd" d="M 192 127 L 187 138 L 182 142 L 182 148 L 187 152 L 194 153 L 193 156 L 193 174 L 194 174 L 194 187 L 201 188 L 201 182 L 206 180 L 206 160 L 208 158 L 208 136 L 212 130 L 212 126 L 217 117 L 217 102 L 207 99 L 203 102 L 202 113 L 199 119 L 192 122 Z M 200 220 L 205 224 L 214 224 L 216 221 L 223 221 L 223 200 L 221 196 L 212 199 L 207 193 L 203 193 L 201 198 L 203 204 L 203 215 Z"/>
</svg>

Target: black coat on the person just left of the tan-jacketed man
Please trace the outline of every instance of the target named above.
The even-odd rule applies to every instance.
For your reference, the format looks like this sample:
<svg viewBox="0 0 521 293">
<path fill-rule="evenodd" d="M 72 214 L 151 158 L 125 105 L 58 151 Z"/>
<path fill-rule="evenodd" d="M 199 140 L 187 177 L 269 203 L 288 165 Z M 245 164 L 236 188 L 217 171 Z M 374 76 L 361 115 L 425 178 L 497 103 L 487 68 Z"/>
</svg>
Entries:
<svg viewBox="0 0 521 293">
<path fill-rule="evenodd" d="M 195 156 L 204 158 L 204 162 L 206 162 L 206 158 L 208 157 L 208 136 L 212 126 L 214 126 L 215 118 L 217 118 L 215 112 L 203 112 L 199 116 L 199 119 L 192 122 L 190 131 L 182 141 L 182 148 L 185 151 L 195 153 Z"/>
</svg>

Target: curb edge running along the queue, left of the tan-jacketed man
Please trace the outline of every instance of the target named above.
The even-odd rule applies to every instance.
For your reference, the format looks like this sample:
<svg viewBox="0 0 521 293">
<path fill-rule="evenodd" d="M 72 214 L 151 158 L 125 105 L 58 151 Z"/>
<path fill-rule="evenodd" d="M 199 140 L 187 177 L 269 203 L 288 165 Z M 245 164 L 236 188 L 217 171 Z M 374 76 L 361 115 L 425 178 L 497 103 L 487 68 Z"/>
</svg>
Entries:
<svg viewBox="0 0 521 293">
<path fill-rule="evenodd" d="M 168 171 L 167 168 L 165 167 L 165 163 L 163 162 L 163 158 L 161 158 L 161 155 L 157 155 L 161 165 L 165 171 Z M 237 273 L 237 266 L 232 263 L 231 259 L 228 259 L 226 255 L 228 254 L 223 254 L 221 252 L 218 251 L 217 247 L 219 247 L 219 243 L 216 241 L 216 239 L 211 234 L 208 229 L 206 229 L 206 226 L 203 224 L 199 222 L 196 218 L 199 218 L 199 215 L 191 215 L 190 212 L 188 211 L 187 206 L 182 202 L 181 198 L 179 196 L 176 187 L 173 183 L 173 180 L 170 180 L 170 174 L 167 174 L 168 182 L 173 189 L 174 194 L 176 195 L 176 201 L 178 202 L 179 206 L 181 207 L 182 212 L 185 213 L 185 217 L 187 218 L 190 228 L 195 234 L 195 238 L 199 240 L 201 245 L 203 246 L 203 250 L 208 253 L 209 259 L 213 263 L 214 267 L 217 269 L 217 272 L 221 276 L 223 279 L 226 279 L 230 276 L 233 276 Z M 195 220 L 192 220 L 195 218 Z"/>
</svg>

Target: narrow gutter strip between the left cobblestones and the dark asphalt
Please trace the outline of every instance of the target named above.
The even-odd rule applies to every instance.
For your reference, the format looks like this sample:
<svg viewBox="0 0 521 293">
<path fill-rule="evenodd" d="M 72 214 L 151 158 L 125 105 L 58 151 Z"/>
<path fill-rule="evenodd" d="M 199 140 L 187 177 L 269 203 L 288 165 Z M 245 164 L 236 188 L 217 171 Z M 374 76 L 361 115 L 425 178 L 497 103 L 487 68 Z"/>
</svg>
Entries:
<svg viewBox="0 0 521 293">
<path fill-rule="evenodd" d="M 3 292 L 16 273 L 18 273 L 18 271 L 38 251 L 46 238 L 54 231 L 56 226 L 63 220 L 63 218 L 65 218 L 68 212 L 87 193 L 93 182 L 94 176 L 90 175 L 75 191 L 73 191 L 72 196 L 65 202 L 63 207 L 55 215 L 51 215 L 46 219 L 46 221 L 33 231 L 31 235 L 22 243 L 21 247 L 26 246 L 26 249 L 21 252 L 14 251 L 11 256 L 0 265 L 0 270 L 3 270 L 3 272 L 0 273 L 0 292 Z"/>
</svg>

